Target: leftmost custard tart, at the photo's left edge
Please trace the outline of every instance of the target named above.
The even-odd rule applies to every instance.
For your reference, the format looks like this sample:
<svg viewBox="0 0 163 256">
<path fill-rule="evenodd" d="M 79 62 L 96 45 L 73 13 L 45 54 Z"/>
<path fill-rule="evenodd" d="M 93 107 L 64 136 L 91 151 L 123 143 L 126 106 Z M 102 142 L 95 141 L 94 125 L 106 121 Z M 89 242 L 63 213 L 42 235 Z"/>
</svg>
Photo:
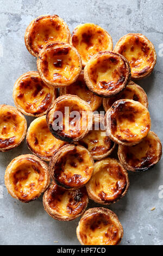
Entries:
<svg viewBox="0 0 163 256">
<path fill-rule="evenodd" d="M 0 151 L 15 148 L 23 141 L 27 132 L 27 121 L 15 107 L 0 105 Z"/>
</svg>

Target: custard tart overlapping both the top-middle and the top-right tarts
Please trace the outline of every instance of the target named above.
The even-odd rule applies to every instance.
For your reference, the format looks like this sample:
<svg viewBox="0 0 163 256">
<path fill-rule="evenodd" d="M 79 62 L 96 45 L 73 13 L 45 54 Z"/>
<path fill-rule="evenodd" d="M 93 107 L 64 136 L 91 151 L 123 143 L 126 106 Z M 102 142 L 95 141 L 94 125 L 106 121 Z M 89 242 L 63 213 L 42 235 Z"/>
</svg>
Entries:
<svg viewBox="0 0 163 256">
<path fill-rule="evenodd" d="M 112 51 L 95 54 L 84 68 L 87 87 L 99 96 L 120 93 L 130 80 L 130 66 L 126 58 Z"/>
</svg>

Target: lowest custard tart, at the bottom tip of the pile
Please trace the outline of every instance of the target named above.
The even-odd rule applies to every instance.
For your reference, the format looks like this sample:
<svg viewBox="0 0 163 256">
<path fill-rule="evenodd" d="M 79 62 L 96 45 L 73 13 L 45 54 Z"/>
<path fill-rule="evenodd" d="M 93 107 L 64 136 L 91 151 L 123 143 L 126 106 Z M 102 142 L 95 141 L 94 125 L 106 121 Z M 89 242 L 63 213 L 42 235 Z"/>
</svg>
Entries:
<svg viewBox="0 0 163 256">
<path fill-rule="evenodd" d="M 79 221 L 77 237 L 81 245 L 118 245 L 123 228 L 113 211 L 103 207 L 90 208 Z"/>
</svg>

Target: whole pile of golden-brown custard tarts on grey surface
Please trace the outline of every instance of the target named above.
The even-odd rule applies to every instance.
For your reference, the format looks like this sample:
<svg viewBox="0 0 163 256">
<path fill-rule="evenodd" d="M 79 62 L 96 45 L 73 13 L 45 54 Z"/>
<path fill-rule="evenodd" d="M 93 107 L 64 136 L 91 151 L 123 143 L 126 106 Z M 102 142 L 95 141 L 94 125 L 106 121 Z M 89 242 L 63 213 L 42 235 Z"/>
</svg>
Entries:
<svg viewBox="0 0 163 256">
<path fill-rule="evenodd" d="M 16 108 L 0 106 L 0 150 L 17 147 L 26 136 L 33 154 L 9 163 L 5 186 L 24 203 L 44 192 L 43 206 L 56 220 L 83 215 L 77 227 L 82 245 L 117 245 L 123 228 L 116 214 L 86 208 L 89 198 L 102 205 L 117 202 L 128 191 L 127 171 L 142 172 L 161 158 L 147 95 L 132 81 L 151 74 L 154 46 L 130 33 L 113 50 L 105 29 L 85 23 L 70 34 L 57 15 L 34 19 L 24 39 L 37 71 L 15 82 Z M 105 115 L 95 112 L 101 105 Z M 74 121 L 74 112 L 80 119 Z M 36 117 L 28 130 L 23 114 Z M 116 144 L 118 160 L 110 156 Z"/>
</svg>

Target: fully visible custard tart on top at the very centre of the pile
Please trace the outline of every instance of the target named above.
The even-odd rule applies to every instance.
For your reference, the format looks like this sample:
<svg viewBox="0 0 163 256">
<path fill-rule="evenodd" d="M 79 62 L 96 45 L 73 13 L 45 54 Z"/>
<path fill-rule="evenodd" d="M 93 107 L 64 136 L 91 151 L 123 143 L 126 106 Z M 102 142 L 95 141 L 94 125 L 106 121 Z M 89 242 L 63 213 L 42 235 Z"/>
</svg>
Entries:
<svg viewBox="0 0 163 256">
<path fill-rule="evenodd" d="M 83 138 L 92 127 L 90 105 L 76 95 L 62 95 L 48 108 L 47 124 L 53 136 L 73 142 Z"/>
</svg>

